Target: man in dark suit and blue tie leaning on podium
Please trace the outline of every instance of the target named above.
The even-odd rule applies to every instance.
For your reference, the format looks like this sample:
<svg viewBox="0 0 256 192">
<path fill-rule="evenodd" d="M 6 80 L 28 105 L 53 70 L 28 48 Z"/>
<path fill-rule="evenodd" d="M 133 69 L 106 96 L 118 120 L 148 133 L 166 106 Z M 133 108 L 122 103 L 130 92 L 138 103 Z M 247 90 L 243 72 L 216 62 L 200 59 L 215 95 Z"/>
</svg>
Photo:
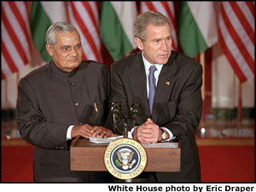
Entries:
<svg viewBox="0 0 256 192">
<path fill-rule="evenodd" d="M 182 140 L 181 172 L 145 174 L 139 181 L 201 182 L 194 135 L 202 110 L 201 64 L 172 50 L 171 22 L 163 14 L 138 15 L 134 35 L 141 51 L 113 63 L 111 98 L 119 99 L 124 116 L 129 116 L 133 99 L 141 99 L 137 127 L 128 121 L 133 138 L 141 144 Z"/>
</svg>

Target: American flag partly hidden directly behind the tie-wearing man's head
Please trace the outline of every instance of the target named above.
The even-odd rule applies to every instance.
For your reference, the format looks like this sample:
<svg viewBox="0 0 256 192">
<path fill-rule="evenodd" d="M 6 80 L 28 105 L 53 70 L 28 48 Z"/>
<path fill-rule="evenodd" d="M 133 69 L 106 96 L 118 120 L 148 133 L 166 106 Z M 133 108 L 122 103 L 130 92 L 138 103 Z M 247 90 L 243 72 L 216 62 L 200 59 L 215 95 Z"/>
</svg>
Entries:
<svg viewBox="0 0 256 192">
<path fill-rule="evenodd" d="M 177 50 L 177 27 L 173 2 L 141 2 L 141 13 L 148 10 L 157 11 L 170 18 L 172 23 L 172 49 Z"/>
</svg>

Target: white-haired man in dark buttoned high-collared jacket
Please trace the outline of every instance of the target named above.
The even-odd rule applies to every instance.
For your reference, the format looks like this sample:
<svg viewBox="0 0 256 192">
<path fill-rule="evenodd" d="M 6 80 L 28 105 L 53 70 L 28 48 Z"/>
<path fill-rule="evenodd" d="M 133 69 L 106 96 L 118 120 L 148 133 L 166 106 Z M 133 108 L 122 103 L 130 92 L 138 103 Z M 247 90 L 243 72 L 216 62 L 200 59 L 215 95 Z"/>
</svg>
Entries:
<svg viewBox="0 0 256 192">
<path fill-rule="evenodd" d="M 102 127 L 108 116 L 109 69 L 82 61 L 79 32 L 67 22 L 49 27 L 46 49 L 53 59 L 20 80 L 16 108 L 20 136 L 34 145 L 34 181 L 109 182 L 108 172 L 70 171 L 69 150 L 77 136 L 112 135 Z"/>
</svg>

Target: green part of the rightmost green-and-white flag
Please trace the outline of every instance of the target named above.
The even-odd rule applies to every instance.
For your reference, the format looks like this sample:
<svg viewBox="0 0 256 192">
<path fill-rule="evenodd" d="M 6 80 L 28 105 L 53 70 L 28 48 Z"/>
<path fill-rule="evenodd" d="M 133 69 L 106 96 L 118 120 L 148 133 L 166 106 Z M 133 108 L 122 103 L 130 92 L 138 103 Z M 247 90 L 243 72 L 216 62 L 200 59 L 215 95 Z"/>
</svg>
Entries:
<svg viewBox="0 0 256 192">
<path fill-rule="evenodd" d="M 187 3 L 182 3 L 178 40 L 183 53 L 195 57 L 201 51 L 207 49 L 207 42 L 201 34 Z"/>
</svg>

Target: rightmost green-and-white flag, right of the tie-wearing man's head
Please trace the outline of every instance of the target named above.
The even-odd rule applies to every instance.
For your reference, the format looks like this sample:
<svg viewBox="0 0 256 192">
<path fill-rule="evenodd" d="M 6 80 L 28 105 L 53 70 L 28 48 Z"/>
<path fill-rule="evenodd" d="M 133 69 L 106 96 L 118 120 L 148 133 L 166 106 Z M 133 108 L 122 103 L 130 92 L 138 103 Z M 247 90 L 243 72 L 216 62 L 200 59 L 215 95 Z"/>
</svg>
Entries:
<svg viewBox="0 0 256 192">
<path fill-rule="evenodd" d="M 183 2 L 178 40 L 183 53 L 195 57 L 218 42 L 218 28 L 212 2 Z"/>
</svg>

